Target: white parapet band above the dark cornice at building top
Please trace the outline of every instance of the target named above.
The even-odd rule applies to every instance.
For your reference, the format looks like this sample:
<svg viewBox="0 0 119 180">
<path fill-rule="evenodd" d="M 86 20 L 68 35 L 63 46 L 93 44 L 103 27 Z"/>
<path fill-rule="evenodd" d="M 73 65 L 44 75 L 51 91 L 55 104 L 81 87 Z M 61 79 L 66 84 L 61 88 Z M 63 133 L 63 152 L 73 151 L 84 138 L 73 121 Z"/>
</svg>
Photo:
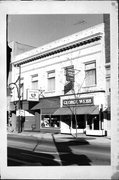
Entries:
<svg viewBox="0 0 119 180">
<path fill-rule="evenodd" d="M 101 31 L 93 32 L 93 34 L 90 33 L 89 30 L 95 30 L 96 27 L 103 28 L 103 31 L 101 30 Z M 84 37 L 81 38 L 81 33 L 85 33 L 86 31 L 88 31 L 88 35 L 85 36 L 85 34 L 83 34 Z M 12 63 L 15 66 L 19 66 L 19 65 L 23 64 L 24 61 L 25 61 L 25 63 L 27 63 L 27 60 L 29 60 L 29 59 L 34 59 L 34 58 L 36 58 L 36 57 L 38 57 L 40 55 L 44 55 L 46 53 L 50 53 L 51 51 L 60 50 L 62 47 L 65 48 L 65 47 L 70 46 L 72 44 L 75 44 L 77 42 L 81 42 L 81 41 L 83 41 L 85 39 L 87 40 L 88 38 L 95 37 L 98 34 L 103 34 L 103 32 L 104 32 L 104 23 L 100 23 L 98 25 L 89 27 L 89 28 L 87 28 L 85 30 L 79 31 L 79 32 L 74 33 L 72 35 L 66 36 L 64 38 L 58 39 L 58 40 L 53 41 L 51 43 L 48 43 L 46 45 L 43 45 L 43 46 L 40 46 L 38 48 L 32 49 L 30 51 L 27 51 L 25 53 L 22 53 L 22 54 L 16 56 Z M 68 39 L 70 37 L 72 39 Z M 73 40 L 73 39 L 75 39 L 75 40 Z M 66 42 L 67 40 L 68 40 L 68 42 Z M 54 47 L 53 43 L 57 43 L 59 45 L 55 45 L 55 47 Z M 30 55 L 28 53 L 30 53 Z M 28 61 L 28 62 L 30 62 L 30 61 Z"/>
</svg>

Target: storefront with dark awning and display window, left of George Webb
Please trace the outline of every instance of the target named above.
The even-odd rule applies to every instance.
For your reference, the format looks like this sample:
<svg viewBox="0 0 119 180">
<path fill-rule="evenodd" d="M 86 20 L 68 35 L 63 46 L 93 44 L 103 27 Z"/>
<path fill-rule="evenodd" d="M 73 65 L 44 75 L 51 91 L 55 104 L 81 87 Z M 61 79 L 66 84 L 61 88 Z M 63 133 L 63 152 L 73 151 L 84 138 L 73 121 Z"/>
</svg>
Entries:
<svg viewBox="0 0 119 180">
<path fill-rule="evenodd" d="M 60 107 L 60 97 L 42 98 L 32 110 L 40 110 L 37 117 L 37 130 L 42 132 L 60 132 L 60 117 L 54 115 L 54 112 Z"/>
</svg>

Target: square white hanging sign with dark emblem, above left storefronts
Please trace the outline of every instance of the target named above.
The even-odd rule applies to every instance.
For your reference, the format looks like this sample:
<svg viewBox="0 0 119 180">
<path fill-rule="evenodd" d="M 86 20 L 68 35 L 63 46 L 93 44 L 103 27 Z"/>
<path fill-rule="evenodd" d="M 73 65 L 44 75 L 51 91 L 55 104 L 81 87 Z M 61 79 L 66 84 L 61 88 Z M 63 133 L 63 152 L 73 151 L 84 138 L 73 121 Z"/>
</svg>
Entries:
<svg viewBox="0 0 119 180">
<path fill-rule="evenodd" d="M 39 91 L 27 89 L 27 101 L 39 101 Z"/>
</svg>

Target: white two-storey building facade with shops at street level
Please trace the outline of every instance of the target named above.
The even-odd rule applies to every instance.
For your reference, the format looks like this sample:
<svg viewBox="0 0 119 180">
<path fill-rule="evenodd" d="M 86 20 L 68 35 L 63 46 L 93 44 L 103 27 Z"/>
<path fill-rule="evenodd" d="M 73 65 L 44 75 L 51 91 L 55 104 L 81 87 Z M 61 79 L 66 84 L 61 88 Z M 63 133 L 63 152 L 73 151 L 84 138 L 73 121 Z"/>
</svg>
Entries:
<svg viewBox="0 0 119 180">
<path fill-rule="evenodd" d="M 108 135 L 105 46 L 101 23 L 16 56 L 12 82 L 19 80 L 10 104 L 14 129 L 20 116 L 22 131 Z"/>
</svg>

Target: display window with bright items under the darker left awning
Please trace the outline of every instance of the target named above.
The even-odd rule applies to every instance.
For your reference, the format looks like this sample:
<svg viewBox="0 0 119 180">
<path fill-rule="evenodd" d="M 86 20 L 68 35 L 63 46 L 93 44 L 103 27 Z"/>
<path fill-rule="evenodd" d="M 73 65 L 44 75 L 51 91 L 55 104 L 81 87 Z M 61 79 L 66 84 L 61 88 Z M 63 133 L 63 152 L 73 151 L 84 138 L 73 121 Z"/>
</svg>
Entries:
<svg viewBox="0 0 119 180">
<path fill-rule="evenodd" d="M 59 128 L 60 127 L 59 116 L 42 115 L 41 127 L 42 128 Z"/>
</svg>

